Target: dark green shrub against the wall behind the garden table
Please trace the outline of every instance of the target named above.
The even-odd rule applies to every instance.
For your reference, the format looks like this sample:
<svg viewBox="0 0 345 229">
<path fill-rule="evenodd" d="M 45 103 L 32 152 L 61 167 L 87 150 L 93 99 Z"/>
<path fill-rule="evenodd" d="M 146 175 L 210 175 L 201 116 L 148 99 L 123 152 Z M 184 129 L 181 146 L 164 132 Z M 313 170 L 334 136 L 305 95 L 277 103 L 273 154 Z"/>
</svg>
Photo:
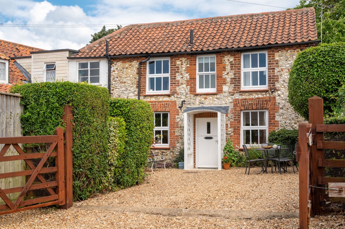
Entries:
<svg viewBox="0 0 345 229">
<path fill-rule="evenodd" d="M 268 142 L 275 144 L 292 143 L 293 145 L 298 142 L 298 129 L 280 129 L 279 131 L 269 132 Z"/>
</svg>

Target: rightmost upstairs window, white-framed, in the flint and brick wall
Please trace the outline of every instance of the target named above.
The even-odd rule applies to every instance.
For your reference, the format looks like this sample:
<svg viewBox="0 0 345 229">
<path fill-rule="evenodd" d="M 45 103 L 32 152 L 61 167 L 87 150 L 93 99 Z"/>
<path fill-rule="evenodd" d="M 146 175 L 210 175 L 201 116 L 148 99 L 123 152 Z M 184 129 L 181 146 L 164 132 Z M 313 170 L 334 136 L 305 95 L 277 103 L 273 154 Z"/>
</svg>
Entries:
<svg viewBox="0 0 345 229">
<path fill-rule="evenodd" d="M 267 51 L 241 54 L 242 89 L 267 89 L 267 73 Z"/>
</svg>

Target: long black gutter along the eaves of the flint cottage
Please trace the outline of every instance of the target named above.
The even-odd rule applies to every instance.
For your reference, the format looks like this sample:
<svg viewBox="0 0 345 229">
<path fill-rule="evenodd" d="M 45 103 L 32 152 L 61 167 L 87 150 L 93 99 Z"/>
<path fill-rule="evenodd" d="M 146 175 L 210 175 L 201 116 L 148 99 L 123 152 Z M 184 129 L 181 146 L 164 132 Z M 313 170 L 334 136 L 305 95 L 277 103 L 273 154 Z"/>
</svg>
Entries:
<svg viewBox="0 0 345 229">
<path fill-rule="evenodd" d="M 275 48 L 280 46 L 289 46 L 289 45 L 303 45 L 303 44 L 311 44 L 311 43 L 319 43 L 320 40 L 317 41 L 303 41 L 303 42 L 296 42 L 296 43 L 284 43 L 284 44 L 272 44 L 272 45 L 265 45 L 265 46 L 252 46 L 252 47 L 244 47 L 244 48 L 229 48 L 229 49 L 216 49 L 216 50 L 206 50 L 206 51 L 184 51 L 184 52 L 169 52 L 169 53 L 146 53 L 146 54 L 131 54 L 131 55 L 115 55 L 109 56 L 110 58 L 124 58 L 124 57 L 140 57 L 140 56 L 172 56 L 176 54 L 203 54 L 203 53 L 219 53 L 223 51 L 238 51 L 238 50 L 265 50 L 268 48 Z M 104 56 L 90 56 L 90 57 L 68 57 L 67 59 L 89 59 L 89 58 L 104 58 Z"/>
</svg>

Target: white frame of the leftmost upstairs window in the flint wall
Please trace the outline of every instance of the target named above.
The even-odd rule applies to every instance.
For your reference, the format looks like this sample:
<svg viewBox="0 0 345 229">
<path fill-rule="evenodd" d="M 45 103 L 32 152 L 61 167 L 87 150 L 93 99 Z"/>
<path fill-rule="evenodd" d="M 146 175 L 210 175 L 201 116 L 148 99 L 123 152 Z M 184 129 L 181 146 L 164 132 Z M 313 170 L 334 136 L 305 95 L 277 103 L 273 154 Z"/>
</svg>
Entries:
<svg viewBox="0 0 345 229">
<path fill-rule="evenodd" d="M 149 64 L 152 63 L 152 61 L 155 62 L 156 65 L 156 61 L 162 61 L 162 72 L 163 72 L 163 61 L 168 61 L 169 63 L 169 72 L 168 73 L 159 73 L 159 74 L 150 74 L 150 69 L 149 69 Z M 146 94 L 169 94 L 170 93 L 170 58 L 151 58 L 149 61 L 146 62 Z M 156 70 L 155 70 L 156 71 Z M 155 86 L 156 87 L 156 80 L 159 78 L 163 78 L 163 77 L 169 77 L 168 78 L 168 90 L 154 90 L 154 89 L 150 89 L 150 79 L 155 79 Z M 163 79 L 162 79 L 163 80 Z M 163 84 L 163 83 L 162 83 Z M 162 85 L 162 89 L 163 89 L 163 85 Z"/>
</svg>

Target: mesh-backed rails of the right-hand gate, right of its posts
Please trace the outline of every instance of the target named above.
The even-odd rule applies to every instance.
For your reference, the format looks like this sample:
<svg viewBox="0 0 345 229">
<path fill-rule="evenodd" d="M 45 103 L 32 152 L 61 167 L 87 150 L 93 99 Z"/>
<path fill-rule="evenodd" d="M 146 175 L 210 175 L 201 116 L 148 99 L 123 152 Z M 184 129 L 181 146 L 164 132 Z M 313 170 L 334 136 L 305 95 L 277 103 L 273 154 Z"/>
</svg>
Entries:
<svg viewBox="0 0 345 229">
<path fill-rule="evenodd" d="M 345 133 L 325 132 L 323 142 L 323 159 L 329 163 L 323 167 L 323 179 L 320 207 L 327 211 L 344 211 L 345 197 L 330 197 L 330 183 L 345 182 Z"/>
</svg>

